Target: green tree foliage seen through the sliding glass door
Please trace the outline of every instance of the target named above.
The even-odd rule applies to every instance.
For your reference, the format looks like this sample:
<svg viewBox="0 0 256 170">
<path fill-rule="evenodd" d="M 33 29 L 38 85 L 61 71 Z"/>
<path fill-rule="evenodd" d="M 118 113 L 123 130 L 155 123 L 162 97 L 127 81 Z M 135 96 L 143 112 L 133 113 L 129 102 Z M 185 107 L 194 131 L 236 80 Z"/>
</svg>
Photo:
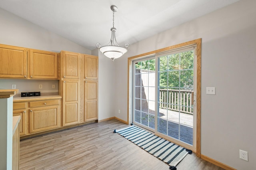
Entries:
<svg viewBox="0 0 256 170">
<path fill-rule="evenodd" d="M 155 59 L 148 59 L 146 61 L 140 61 L 135 64 L 136 68 L 136 80 L 140 80 L 140 73 L 155 72 Z M 163 55 L 158 60 L 158 77 L 160 89 L 164 91 L 170 90 L 193 90 L 193 77 L 194 77 L 194 50 L 185 51 L 182 53 L 175 53 L 171 55 Z M 135 81 L 136 81 L 135 80 Z M 140 86 L 140 81 L 135 82 L 136 86 Z M 138 87 L 136 89 L 138 91 Z M 170 103 L 169 92 L 163 95 L 160 99 L 160 107 L 166 108 L 164 103 Z M 178 101 L 179 95 L 176 95 Z M 188 97 L 190 101 L 190 96 Z M 187 100 L 182 105 L 187 105 Z M 178 105 L 174 106 L 174 109 L 178 109 Z M 145 118 L 146 119 L 146 118 Z M 147 120 L 147 119 L 146 119 Z"/>
</svg>

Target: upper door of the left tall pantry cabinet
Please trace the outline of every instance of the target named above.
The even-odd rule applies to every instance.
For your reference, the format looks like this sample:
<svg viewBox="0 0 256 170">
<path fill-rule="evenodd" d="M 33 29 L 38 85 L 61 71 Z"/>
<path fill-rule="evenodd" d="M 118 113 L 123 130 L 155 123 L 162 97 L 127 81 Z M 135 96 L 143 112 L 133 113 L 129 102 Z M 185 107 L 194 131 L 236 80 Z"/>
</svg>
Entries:
<svg viewBox="0 0 256 170">
<path fill-rule="evenodd" d="M 61 51 L 62 78 L 79 79 L 80 53 Z"/>
</svg>

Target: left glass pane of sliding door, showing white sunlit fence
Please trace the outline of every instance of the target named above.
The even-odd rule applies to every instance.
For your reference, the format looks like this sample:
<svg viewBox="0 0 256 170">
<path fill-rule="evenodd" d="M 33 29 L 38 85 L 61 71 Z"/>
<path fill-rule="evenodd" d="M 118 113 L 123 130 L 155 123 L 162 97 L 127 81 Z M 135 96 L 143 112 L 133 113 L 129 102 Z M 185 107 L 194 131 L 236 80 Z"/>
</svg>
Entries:
<svg viewBox="0 0 256 170">
<path fill-rule="evenodd" d="M 155 59 L 134 63 L 134 122 L 154 129 Z"/>
</svg>

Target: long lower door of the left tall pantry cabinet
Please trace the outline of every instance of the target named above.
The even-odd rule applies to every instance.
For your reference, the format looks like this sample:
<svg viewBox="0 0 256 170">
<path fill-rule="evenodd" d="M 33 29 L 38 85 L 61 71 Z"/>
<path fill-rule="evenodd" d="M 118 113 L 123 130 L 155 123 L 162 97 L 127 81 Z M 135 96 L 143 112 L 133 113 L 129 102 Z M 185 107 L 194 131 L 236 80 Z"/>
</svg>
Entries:
<svg viewBox="0 0 256 170">
<path fill-rule="evenodd" d="M 62 126 L 79 123 L 79 81 L 64 80 L 62 95 Z"/>
</svg>

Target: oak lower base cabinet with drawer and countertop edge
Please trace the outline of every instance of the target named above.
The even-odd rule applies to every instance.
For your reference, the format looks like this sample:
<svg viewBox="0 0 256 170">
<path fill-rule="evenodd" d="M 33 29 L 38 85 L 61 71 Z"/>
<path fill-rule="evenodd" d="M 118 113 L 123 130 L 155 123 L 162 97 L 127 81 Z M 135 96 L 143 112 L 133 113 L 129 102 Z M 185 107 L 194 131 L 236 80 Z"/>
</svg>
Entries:
<svg viewBox="0 0 256 170">
<path fill-rule="evenodd" d="M 61 127 L 60 96 L 14 98 L 13 116 L 20 116 L 20 136 Z"/>
</svg>

